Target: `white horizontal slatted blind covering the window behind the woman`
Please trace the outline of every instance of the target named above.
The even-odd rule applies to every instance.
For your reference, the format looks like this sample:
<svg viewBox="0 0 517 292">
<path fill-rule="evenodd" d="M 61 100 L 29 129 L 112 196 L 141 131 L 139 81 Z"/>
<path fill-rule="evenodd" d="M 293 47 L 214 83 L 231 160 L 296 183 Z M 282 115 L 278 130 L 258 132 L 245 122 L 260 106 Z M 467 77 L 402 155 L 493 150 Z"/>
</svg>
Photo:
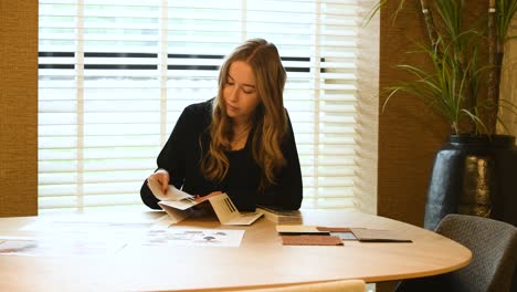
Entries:
<svg viewBox="0 0 517 292">
<path fill-rule="evenodd" d="M 141 205 L 181 111 L 225 54 L 279 50 L 303 208 L 356 208 L 357 0 L 40 0 L 39 209 Z"/>
</svg>

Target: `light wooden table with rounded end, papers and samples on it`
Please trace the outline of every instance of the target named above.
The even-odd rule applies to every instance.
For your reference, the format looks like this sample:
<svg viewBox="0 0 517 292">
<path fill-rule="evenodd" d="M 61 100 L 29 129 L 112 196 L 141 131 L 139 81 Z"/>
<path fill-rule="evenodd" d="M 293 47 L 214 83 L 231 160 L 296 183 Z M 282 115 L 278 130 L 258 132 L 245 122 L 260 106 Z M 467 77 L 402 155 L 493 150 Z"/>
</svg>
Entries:
<svg viewBox="0 0 517 292">
<path fill-rule="evenodd" d="M 0 290 L 229 291 L 339 279 L 380 282 L 454 271 L 467 265 L 472 258 L 468 249 L 445 237 L 388 218 L 340 210 L 303 210 L 302 213 L 304 225 L 394 230 L 412 242 L 283 246 L 275 223 L 265 218 L 252 226 L 220 226 L 214 216 L 208 216 L 187 219 L 171 228 L 245 230 L 241 246 L 128 244 L 116 254 L 95 257 L 3 254 L 0 255 Z M 163 215 L 122 212 L 116 218 L 151 220 Z M 20 228 L 41 218 L 2 218 L 0 236 L 38 236 Z M 92 240 L 102 239 L 92 234 Z"/>
</svg>

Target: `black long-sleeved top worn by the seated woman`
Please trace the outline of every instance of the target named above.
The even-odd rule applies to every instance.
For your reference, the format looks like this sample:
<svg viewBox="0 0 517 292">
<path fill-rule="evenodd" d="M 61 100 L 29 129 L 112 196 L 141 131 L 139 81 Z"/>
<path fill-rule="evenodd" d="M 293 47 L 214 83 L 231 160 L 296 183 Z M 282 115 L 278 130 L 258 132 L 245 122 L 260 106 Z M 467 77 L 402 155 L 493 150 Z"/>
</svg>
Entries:
<svg viewBox="0 0 517 292">
<path fill-rule="evenodd" d="M 252 156 L 253 133 L 250 133 L 243 149 L 225 153 L 230 160 L 230 169 L 222 181 L 209 181 L 203 177 L 200 170 L 200 140 L 202 148 L 208 149 L 211 140 L 209 126 L 212 119 L 212 101 L 187 106 L 161 149 L 157 164 L 158 168 L 169 171 L 169 184 L 191 195 L 205 196 L 218 190 L 226 192 L 240 211 L 254 211 L 256 205 L 286 210 L 299 209 L 303 198 L 302 170 L 288 116 L 288 131 L 281 146 L 287 165 L 278 174 L 276 185 L 258 191 L 261 168 Z M 158 199 L 146 181 L 140 196 L 148 207 L 160 209 Z"/>
</svg>

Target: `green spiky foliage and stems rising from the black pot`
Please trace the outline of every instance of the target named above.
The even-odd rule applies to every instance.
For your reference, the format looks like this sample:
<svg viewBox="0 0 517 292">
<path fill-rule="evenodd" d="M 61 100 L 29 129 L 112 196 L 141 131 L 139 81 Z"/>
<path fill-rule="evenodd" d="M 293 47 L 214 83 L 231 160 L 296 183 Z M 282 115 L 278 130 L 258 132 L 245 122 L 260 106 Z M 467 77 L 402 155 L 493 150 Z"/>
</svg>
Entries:
<svg viewBox="0 0 517 292">
<path fill-rule="evenodd" d="M 388 0 L 378 2 L 376 13 Z M 405 0 L 399 0 L 398 10 Z M 517 0 L 489 0 L 488 13 L 476 21 L 465 21 L 468 1 L 420 1 L 429 43 L 412 53 L 424 54 L 430 67 L 412 64 L 398 66 L 414 79 L 387 88 L 387 103 L 403 92 L 422 98 L 451 125 L 453 134 L 493 135 L 498 109 L 517 114 L 516 106 L 499 98 L 500 69 L 505 42 Z M 472 3 L 472 2 L 469 2 Z M 504 126 L 504 125 L 503 125 Z"/>
</svg>

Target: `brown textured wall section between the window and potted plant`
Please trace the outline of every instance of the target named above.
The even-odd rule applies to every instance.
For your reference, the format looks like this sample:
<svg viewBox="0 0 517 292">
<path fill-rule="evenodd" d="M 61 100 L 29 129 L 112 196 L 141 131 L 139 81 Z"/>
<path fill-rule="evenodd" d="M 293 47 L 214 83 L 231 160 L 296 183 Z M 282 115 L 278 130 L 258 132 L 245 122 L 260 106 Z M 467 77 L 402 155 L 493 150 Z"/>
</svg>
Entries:
<svg viewBox="0 0 517 292">
<path fill-rule="evenodd" d="M 409 80 L 397 64 L 425 64 L 420 54 L 407 53 L 428 41 L 419 1 L 405 1 L 393 21 L 399 1 L 381 11 L 380 91 Z M 447 135 L 447 125 L 419 100 L 398 95 L 384 111 L 380 98 L 378 215 L 423 226 L 424 204 L 434 154 Z"/>
</svg>

